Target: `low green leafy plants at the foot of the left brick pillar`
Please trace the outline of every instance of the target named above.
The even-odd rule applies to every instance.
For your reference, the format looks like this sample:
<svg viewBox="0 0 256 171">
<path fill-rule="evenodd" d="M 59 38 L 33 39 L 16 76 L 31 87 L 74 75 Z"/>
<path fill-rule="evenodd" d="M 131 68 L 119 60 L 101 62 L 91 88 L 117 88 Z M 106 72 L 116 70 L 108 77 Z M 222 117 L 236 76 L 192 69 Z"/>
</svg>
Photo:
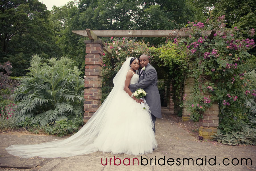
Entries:
<svg viewBox="0 0 256 171">
<path fill-rule="evenodd" d="M 47 125 L 44 130 L 49 135 L 57 135 L 63 137 L 68 134 L 76 133 L 78 128 L 83 125 L 82 115 L 76 115 L 72 120 L 56 121 L 54 125 Z"/>
</svg>

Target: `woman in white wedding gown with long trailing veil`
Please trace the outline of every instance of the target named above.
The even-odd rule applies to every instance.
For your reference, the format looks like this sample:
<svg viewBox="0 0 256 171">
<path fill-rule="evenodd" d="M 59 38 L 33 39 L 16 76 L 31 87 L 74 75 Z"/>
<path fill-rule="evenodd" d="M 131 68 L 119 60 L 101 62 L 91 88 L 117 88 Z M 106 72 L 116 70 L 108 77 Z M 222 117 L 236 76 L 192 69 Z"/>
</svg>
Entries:
<svg viewBox="0 0 256 171">
<path fill-rule="evenodd" d="M 96 151 L 141 155 L 157 148 L 151 113 L 146 101 L 128 88 L 139 80 L 137 58 L 128 58 L 113 79 L 114 87 L 102 105 L 77 133 L 65 140 L 11 145 L 7 152 L 21 158 L 55 158 Z M 144 102 L 146 109 L 141 104 Z"/>
</svg>

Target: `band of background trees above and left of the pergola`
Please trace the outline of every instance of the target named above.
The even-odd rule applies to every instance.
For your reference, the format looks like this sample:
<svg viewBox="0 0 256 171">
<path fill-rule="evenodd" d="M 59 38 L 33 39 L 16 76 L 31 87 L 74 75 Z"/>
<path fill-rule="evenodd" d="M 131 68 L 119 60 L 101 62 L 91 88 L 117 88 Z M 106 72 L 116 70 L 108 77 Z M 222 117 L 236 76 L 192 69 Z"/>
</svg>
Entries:
<svg viewBox="0 0 256 171">
<path fill-rule="evenodd" d="M 23 76 L 33 54 L 44 59 L 67 56 L 84 68 L 87 38 L 72 30 L 172 30 L 188 21 L 226 16 L 228 27 L 255 28 L 255 3 L 205 0 L 77 0 L 49 11 L 38 0 L 0 2 L 0 63 L 13 65 L 13 76 Z M 107 38 L 102 38 L 107 40 Z M 137 38 L 151 45 L 164 38 Z"/>
</svg>

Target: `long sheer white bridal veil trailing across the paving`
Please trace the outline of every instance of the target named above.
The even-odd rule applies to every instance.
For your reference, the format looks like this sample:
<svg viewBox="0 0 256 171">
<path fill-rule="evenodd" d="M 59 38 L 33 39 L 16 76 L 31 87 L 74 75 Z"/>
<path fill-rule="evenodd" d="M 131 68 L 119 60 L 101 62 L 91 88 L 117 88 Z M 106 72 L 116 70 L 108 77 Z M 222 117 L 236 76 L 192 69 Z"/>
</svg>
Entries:
<svg viewBox="0 0 256 171">
<path fill-rule="evenodd" d="M 98 151 L 93 144 L 104 125 L 106 117 L 108 117 L 108 109 L 112 103 L 112 99 L 122 93 L 127 71 L 130 69 L 130 57 L 126 60 L 113 79 L 114 87 L 102 105 L 89 119 L 89 121 L 77 133 L 65 140 L 53 141 L 42 144 L 29 145 L 11 145 L 7 148 L 7 152 L 20 158 L 30 158 L 34 156 L 55 158 L 69 157 L 82 154 L 88 154 Z"/>
</svg>

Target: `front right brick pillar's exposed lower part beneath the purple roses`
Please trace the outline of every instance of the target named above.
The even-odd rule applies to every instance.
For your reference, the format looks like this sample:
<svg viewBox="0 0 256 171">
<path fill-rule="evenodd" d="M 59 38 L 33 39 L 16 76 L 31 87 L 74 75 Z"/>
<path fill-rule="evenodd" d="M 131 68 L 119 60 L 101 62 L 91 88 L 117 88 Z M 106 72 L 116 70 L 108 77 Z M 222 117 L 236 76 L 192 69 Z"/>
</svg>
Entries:
<svg viewBox="0 0 256 171">
<path fill-rule="evenodd" d="M 205 92 L 204 97 L 211 100 L 211 95 L 208 92 Z M 212 139 L 210 136 L 217 133 L 219 126 L 218 103 L 212 103 L 212 106 L 202 112 L 202 114 L 203 119 L 199 118 L 199 136 L 202 136 L 204 139 Z"/>
</svg>

